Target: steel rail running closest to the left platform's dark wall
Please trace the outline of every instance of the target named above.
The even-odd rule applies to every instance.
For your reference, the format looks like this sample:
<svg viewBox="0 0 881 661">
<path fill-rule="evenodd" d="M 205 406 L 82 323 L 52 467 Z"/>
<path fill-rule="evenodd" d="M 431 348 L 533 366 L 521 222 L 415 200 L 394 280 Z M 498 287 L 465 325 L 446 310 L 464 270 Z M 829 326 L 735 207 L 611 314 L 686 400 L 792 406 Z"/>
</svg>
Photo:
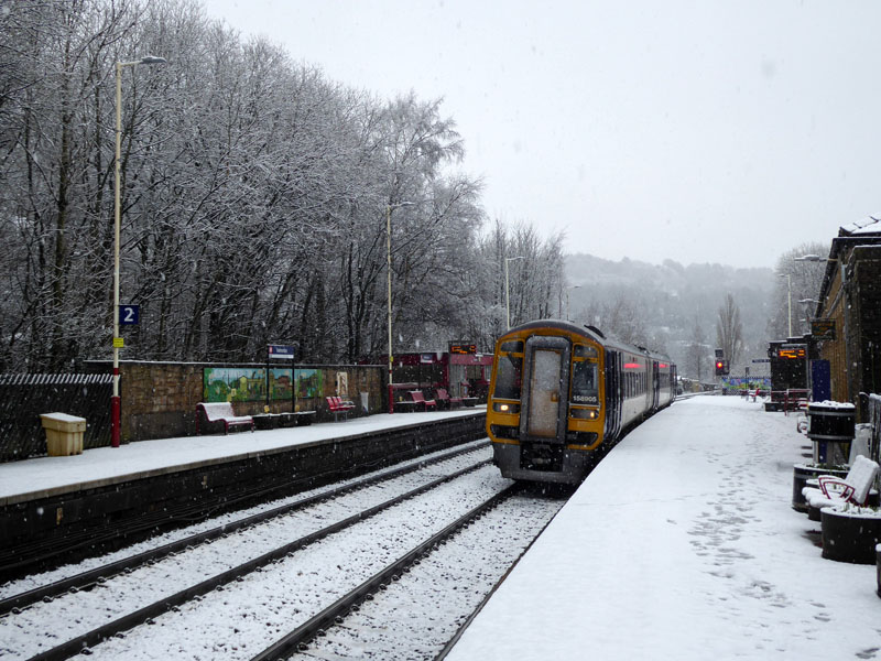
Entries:
<svg viewBox="0 0 881 661">
<path fill-rule="evenodd" d="M 341 487 L 333 488 L 327 491 L 322 491 L 320 494 L 315 494 L 313 496 L 303 498 L 295 502 L 290 502 L 287 505 L 280 506 L 267 510 L 264 512 L 258 512 L 250 517 L 239 519 L 238 521 L 231 521 L 224 525 L 213 528 L 211 530 L 206 530 L 204 532 L 186 537 L 175 542 L 170 542 L 156 549 L 151 549 L 150 551 L 144 551 L 142 553 L 124 557 L 117 562 L 109 563 L 107 565 L 102 565 L 100 567 L 83 572 L 80 574 L 76 574 L 75 576 L 63 578 L 61 581 L 56 581 L 54 583 L 50 583 L 44 586 L 35 587 L 28 592 L 23 592 L 18 595 L 13 595 L 11 597 L 7 597 L 6 599 L 0 600 L 0 616 L 7 613 L 20 611 L 22 608 L 26 608 L 37 602 L 42 602 L 45 599 L 53 599 L 69 590 L 76 592 L 79 589 L 88 588 L 101 582 L 102 579 L 106 581 L 107 578 L 117 576 L 127 571 L 134 570 L 149 562 L 155 562 L 173 553 L 180 553 L 182 551 L 186 551 L 189 546 L 196 546 L 199 544 L 204 544 L 206 542 L 210 542 L 213 540 L 224 537 L 225 534 L 239 531 L 241 529 L 254 525 L 257 523 L 261 523 L 263 521 L 268 521 L 270 519 L 274 519 L 276 517 L 289 514 L 298 509 L 311 507 L 323 500 L 337 498 L 355 489 L 360 489 L 368 486 L 372 486 L 374 484 L 379 484 L 381 481 L 394 479 L 402 475 L 406 475 L 407 473 L 415 473 L 416 470 L 420 470 L 426 466 L 439 464 L 440 462 L 445 462 L 450 458 L 455 458 L 457 456 L 465 455 L 471 452 L 477 452 L 478 449 L 482 449 L 488 444 L 489 441 L 487 441 L 486 443 L 471 445 L 466 448 L 459 448 L 453 452 L 448 452 L 445 453 L 444 455 L 432 457 L 431 459 L 416 462 L 412 465 L 393 468 L 388 472 L 383 472 L 380 475 L 366 477 L 363 479 L 356 480 L 354 483 L 344 485 Z"/>
</svg>

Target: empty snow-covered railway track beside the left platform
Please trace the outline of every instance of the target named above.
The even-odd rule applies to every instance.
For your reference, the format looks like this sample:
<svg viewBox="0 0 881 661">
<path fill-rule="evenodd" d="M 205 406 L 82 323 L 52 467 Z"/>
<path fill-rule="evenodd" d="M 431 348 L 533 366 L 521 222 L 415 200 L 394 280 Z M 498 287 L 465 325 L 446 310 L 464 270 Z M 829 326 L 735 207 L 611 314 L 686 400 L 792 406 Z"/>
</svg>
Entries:
<svg viewBox="0 0 881 661">
<path fill-rule="evenodd" d="M 273 564 L 290 563 L 311 544 L 328 535 L 363 524 L 410 499 L 455 484 L 468 474 L 482 469 L 487 474 L 482 478 L 486 481 L 492 473 L 485 468 L 490 454 L 487 443 L 438 454 L 440 456 L 433 462 L 423 460 L 350 480 L 336 489 L 8 596 L 0 602 L 0 613 L 4 614 L 0 617 L 0 639 L 3 640 L 0 655 L 66 659 L 84 650 L 93 651 L 101 641 L 126 636 L 123 632 L 144 622 L 154 622 L 163 614 L 180 613 L 207 599 L 209 593 L 220 593 Z M 413 486 L 414 480 L 418 486 Z M 393 492 L 391 497 L 390 492 Z M 374 505 L 365 507 L 370 502 Z M 297 518 L 301 519 L 298 523 L 294 521 Z M 292 539 L 293 532 L 304 525 L 312 529 Z M 279 539 L 287 541 L 279 544 Z M 264 548 L 267 544 L 271 546 L 269 550 Z M 247 560 L 240 562 L 241 556 Z M 155 590 L 148 588 L 156 574 L 165 576 L 164 581 L 159 581 L 164 587 L 159 589 L 162 594 L 157 598 L 153 594 Z M 203 579 L 194 581 L 194 577 Z M 183 582 L 189 585 L 180 589 Z M 175 589 L 170 590 L 170 586 Z M 135 594 L 141 598 L 133 598 Z M 108 604 L 120 604 L 121 608 Z M 44 636 L 33 636 L 41 630 L 45 631 Z"/>
</svg>

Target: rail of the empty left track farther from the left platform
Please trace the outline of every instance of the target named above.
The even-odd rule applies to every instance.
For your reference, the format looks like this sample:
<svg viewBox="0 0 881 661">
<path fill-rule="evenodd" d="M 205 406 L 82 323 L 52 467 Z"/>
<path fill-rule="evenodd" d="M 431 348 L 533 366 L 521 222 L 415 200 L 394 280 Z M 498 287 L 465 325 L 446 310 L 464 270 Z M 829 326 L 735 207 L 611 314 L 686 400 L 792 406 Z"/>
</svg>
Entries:
<svg viewBox="0 0 881 661">
<path fill-rule="evenodd" d="M 489 463 L 490 459 L 480 462 L 467 468 L 463 468 L 461 470 L 457 470 L 456 473 L 453 473 L 450 475 L 445 475 L 443 477 L 434 479 L 431 483 L 427 483 L 421 487 L 407 491 L 406 494 L 395 496 L 390 500 L 387 500 L 371 508 L 368 508 L 361 512 L 347 517 L 346 519 L 342 519 L 340 521 L 337 521 L 336 523 L 327 525 L 322 530 L 317 530 L 315 532 L 312 532 L 309 534 L 300 538 L 298 540 L 294 540 L 293 542 L 279 546 L 273 551 L 269 551 L 268 553 L 264 553 L 259 557 L 249 560 L 248 562 L 244 562 L 238 566 L 221 572 L 220 574 L 217 574 L 206 581 L 203 581 L 202 583 L 184 588 L 173 595 L 163 597 L 162 599 L 154 602 L 153 604 L 150 604 L 148 606 L 144 606 L 143 608 L 135 610 L 134 613 L 124 615 L 96 629 L 93 629 L 91 631 L 72 638 L 70 640 L 63 642 L 59 646 L 40 652 L 39 654 L 31 657 L 30 661 L 61 661 L 63 659 L 69 659 L 74 654 L 83 652 L 84 649 L 91 647 L 94 644 L 98 644 L 102 640 L 110 638 L 111 636 L 116 636 L 117 633 L 121 633 L 122 631 L 127 631 L 137 626 L 145 624 L 149 620 L 159 617 L 167 613 L 168 610 L 172 610 L 173 608 L 181 606 L 182 604 L 185 604 L 186 602 L 189 602 L 196 597 L 205 595 L 216 589 L 219 586 L 232 583 L 233 581 L 237 581 L 241 576 L 250 574 L 251 572 L 254 572 L 258 568 L 263 567 L 272 562 L 280 561 L 289 553 L 293 553 L 305 546 L 308 546 L 309 544 L 317 542 L 318 540 L 325 537 L 339 532 L 350 525 L 354 525 L 355 523 L 363 521 L 365 519 L 369 519 L 370 517 L 373 517 L 374 514 L 385 509 L 389 509 L 400 502 L 403 502 L 404 500 L 407 500 L 415 496 L 420 496 L 426 491 L 429 491 L 443 485 L 444 483 L 452 481 Z"/>
</svg>

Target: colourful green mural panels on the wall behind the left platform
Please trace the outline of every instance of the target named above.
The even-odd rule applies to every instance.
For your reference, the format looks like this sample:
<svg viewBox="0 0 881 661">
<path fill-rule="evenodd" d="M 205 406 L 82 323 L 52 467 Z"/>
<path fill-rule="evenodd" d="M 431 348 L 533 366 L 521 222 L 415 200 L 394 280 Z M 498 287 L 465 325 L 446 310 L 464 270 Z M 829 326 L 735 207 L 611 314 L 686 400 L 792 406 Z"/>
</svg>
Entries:
<svg viewBox="0 0 881 661">
<path fill-rule="evenodd" d="M 270 398 L 292 397 L 291 368 L 270 368 Z M 257 402 L 267 399 L 267 370 L 252 367 L 206 367 L 203 370 L 206 402 Z M 322 397 L 322 370 L 296 370 L 297 398 Z"/>
</svg>

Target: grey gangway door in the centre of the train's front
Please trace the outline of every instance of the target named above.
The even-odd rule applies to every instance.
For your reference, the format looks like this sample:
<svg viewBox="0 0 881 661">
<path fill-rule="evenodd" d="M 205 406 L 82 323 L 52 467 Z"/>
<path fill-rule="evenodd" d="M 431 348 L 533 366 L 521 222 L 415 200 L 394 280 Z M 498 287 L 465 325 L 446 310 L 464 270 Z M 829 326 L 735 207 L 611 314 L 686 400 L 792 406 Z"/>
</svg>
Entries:
<svg viewBox="0 0 881 661">
<path fill-rule="evenodd" d="M 521 437 L 565 438 L 568 405 L 569 342 L 533 336 L 526 340 Z"/>
</svg>

